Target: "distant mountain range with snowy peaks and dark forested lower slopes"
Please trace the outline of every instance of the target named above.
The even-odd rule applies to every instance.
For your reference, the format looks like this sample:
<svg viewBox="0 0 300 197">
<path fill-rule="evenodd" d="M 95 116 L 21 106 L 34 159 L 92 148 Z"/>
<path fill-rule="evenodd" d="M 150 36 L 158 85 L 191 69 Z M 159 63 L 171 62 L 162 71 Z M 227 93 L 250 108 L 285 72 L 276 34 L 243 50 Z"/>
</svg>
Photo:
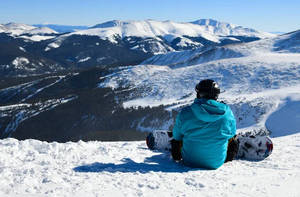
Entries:
<svg viewBox="0 0 300 197">
<path fill-rule="evenodd" d="M 128 65 L 168 51 L 276 36 L 211 19 L 185 23 L 113 20 L 71 33 L 50 29 L 49 25 L 53 24 L 39 25 L 1 24 L 0 76 L 42 74 L 121 62 Z"/>
</svg>

